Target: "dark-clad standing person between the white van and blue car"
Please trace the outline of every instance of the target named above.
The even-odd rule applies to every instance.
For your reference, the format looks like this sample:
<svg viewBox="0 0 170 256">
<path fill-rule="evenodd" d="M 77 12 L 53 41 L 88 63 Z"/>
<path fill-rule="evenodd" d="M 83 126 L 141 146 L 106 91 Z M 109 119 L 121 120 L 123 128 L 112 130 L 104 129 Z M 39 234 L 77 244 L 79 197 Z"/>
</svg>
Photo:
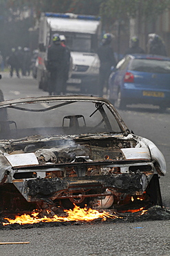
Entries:
<svg viewBox="0 0 170 256">
<path fill-rule="evenodd" d="M 116 66 L 114 50 L 111 47 L 112 35 L 106 33 L 103 35 L 102 45 L 98 48 L 98 57 L 100 59 L 99 89 L 98 95 L 103 97 L 103 89 L 108 89 L 108 79 L 111 73 L 111 66 Z"/>
</svg>

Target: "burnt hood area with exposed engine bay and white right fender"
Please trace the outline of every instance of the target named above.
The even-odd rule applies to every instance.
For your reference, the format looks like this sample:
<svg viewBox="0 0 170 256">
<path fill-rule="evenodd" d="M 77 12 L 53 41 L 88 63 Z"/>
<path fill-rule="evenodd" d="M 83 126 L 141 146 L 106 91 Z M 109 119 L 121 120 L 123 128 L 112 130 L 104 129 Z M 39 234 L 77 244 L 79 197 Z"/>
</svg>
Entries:
<svg viewBox="0 0 170 256">
<path fill-rule="evenodd" d="M 100 134 L 100 136 L 94 136 L 88 134 L 81 137 L 62 136 L 62 140 L 65 140 L 67 143 L 61 145 L 61 138 L 59 137 L 45 138 L 42 136 L 41 138 L 34 138 L 34 140 L 25 138 L 20 141 L 4 141 L 1 144 L 0 165 L 3 167 L 1 167 L 0 181 L 5 172 L 11 167 L 34 166 L 36 168 L 39 165 L 49 166 L 54 165 L 54 163 L 65 164 L 65 162 L 68 165 L 78 158 L 81 161 L 83 159 L 83 161 L 99 161 L 101 163 L 101 161 L 106 161 L 106 155 L 109 155 L 109 161 L 156 161 L 160 168 L 160 174 L 164 175 L 166 173 L 164 156 L 158 147 L 150 140 L 140 136 L 132 134 L 128 136 L 123 134 Z M 112 140 L 115 147 L 110 148 L 108 144 Z M 42 146 L 44 142 L 46 148 Z M 104 143 L 106 143 L 106 147 L 103 147 Z M 24 149 L 14 150 L 8 154 L 9 149 L 16 145 L 20 148 L 24 147 Z M 27 150 L 31 152 L 26 152 Z"/>
</svg>

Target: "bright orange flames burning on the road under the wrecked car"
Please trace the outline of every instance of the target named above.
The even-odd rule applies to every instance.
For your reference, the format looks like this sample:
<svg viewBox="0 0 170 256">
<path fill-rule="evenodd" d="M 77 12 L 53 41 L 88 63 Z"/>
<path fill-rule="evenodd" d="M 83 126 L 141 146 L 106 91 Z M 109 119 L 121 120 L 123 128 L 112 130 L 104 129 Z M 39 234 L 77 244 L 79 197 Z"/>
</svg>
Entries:
<svg viewBox="0 0 170 256">
<path fill-rule="evenodd" d="M 107 218 L 115 219 L 120 218 L 118 216 L 109 214 L 108 212 L 98 212 L 98 210 L 92 210 L 91 208 L 80 208 L 77 205 L 74 205 L 73 210 L 64 210 L 67 212 L 67 217 L 59 217 L 57 215 L 54 215 L 54 217 L 43 217 L 39 218 L 38 214 L 39 212 L 32 212 L 31 215 L 29 214 L 23 214 L 21 216 L 15 217 L 15 219 L 9 219 L 4 218 L 8 221 L 8 223 L 2 223 L 3 226 L 19 223 L 20 225 L 23 224 L 33 224 L 33 223 L 39 223 L 39 222 L 56 222 L 56 221 L 92 221 L 94 219 L 101 218 L 103 221 L 106 221 Z"/>
</svg>

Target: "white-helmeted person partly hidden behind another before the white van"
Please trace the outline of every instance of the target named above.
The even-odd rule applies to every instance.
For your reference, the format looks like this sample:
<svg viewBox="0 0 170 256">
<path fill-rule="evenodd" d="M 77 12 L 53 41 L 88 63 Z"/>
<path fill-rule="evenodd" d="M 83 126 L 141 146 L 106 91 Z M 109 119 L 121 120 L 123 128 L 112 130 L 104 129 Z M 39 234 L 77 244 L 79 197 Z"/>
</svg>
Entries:
<svg viewBox="0 0 170 256">
<path fill-rule="evenodd" d="M 63 62 L 63 94 L 66 94 L 67 92 L 67 80 L 69 78 L 69 72 L 70 72 L 70 48 L 66 46 L 65 41 L 65 35 L 60 35 L 61 39 L 61 45 L 65 48 L 65 57 L 64 57 L 64 62 Z"/>
</svg>

